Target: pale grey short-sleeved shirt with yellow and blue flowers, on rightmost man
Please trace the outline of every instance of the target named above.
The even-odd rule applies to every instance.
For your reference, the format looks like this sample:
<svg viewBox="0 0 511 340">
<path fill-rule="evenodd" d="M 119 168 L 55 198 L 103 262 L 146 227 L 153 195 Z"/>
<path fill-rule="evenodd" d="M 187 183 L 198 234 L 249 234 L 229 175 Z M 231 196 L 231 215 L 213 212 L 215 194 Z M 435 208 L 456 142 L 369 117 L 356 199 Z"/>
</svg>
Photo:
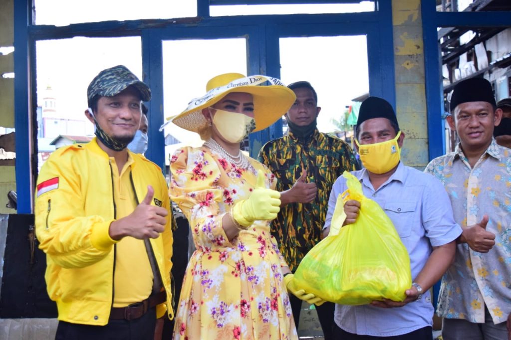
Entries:
<svg viewBox="0 0 511 340">
<path fill-rule="evenodd" d="M 492 140 L 472 168 L 458 144 L 425 171 L 444 183 L 462 228 L 488 215 L 486 230 L 495 234 L 488 253 L 457 245 L 455 261 L 442 278 L 438 315 L 484 323 L 486 305 L 495 324 L 505 322 L 511 313 L 511 149 Z"/>
</svg>

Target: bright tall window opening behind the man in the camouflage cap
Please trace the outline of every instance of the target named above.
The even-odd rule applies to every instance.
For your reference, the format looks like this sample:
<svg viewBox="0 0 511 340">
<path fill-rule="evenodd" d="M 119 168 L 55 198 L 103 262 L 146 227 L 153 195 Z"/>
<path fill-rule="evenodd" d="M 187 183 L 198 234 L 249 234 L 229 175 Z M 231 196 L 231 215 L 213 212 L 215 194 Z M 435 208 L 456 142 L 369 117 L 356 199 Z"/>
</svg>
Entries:
<svg viewBox="0 0 511 340">
<path fill-rule="evenodd" d="M 87 87 L 101 70 L 122 64 L 142 79 L 140 37 L 41 40 L 36 60 L 39 153 L 54 150 L 59 135 L 94 134 L 84 112 Z"/>
</svg>

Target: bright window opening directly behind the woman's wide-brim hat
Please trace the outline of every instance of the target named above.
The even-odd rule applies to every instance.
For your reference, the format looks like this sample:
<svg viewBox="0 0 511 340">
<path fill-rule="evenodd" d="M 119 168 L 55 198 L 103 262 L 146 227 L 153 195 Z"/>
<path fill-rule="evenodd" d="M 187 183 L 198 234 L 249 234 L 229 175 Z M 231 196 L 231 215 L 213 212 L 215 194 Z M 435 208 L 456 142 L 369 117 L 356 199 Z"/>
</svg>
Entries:
<svg viewBox="0 0 511 340">
<path fill-rule="evenodd" d="M 171 40 L 164 41 L 164 116 L 174 116 L 188 106 L 188 102 L 206 93 L 211 78 L 228 72 L 247 73 L 246 40 Z M 165 147 L 169 154 L 183 145 L 202 144 L 195 132 L 169 124 L 165 128 L 167 141 L 179 141 Z"/>
</svg>

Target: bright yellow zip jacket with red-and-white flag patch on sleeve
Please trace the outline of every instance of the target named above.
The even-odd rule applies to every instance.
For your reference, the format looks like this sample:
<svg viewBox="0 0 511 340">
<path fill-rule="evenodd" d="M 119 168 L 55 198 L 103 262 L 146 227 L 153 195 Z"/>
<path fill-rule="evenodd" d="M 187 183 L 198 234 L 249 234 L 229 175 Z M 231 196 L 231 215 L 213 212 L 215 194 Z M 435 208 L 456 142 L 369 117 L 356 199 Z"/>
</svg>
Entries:
<svg viewBox="0 0 511 340">
<path fill-rule="evenodd" d="M 131 153 L 132 185 L 138 202 L 147 186 L 154 188 L 152 204 L 169 210 L 165 231 L 150 239 L 167 303 L 171 307 L 173 221 L 167 183 L 160 168 Z M 96 138 L 55 151 L 43 164 L 37 179 L 35 224 L 39 248 L 47 254 L 45 279 L 50 298 L 57 302 L 58 319 L 87 325 L 106 325 L 113 301 L 115 241 L 108 236 L 115 220 L 112 168 Z M 133 273 L 136 280 L 136 273 Z"/>
</svg>

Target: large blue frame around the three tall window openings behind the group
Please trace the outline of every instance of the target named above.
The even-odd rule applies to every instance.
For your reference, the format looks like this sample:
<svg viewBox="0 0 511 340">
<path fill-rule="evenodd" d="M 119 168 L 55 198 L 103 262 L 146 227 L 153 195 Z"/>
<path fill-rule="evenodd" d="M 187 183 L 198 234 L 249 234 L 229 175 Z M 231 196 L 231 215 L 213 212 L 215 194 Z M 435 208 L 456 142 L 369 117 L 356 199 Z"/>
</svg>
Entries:
<svg viewBox="0 0 511 340">
<path fill-rule="evenodd" d="M 345 2 L 339 0 L 340 3 Z M 164 136 L 158 127 L 164 119 L 162 41 L 176 39 L 247 39 L 247 74 L 280 77 L 279 39 L 304 36 L 366 35 L 371 95 L 386 98 L 395 107 L 391 2 L 379 4 L 376 12 L 343 14 L 248 15 L 210 17 L 207 0 L 197 0 L 201 17 L 172 20 L 129 20 L 78 23 L 66 27 L 36 26 L 32 22 L 32 0 L 14 2 L 14 71 L 16 184 L 18 213 L 33 209 L 36 141 L 32 137 L 35 112 L 35 42 L 74 36 L 140 36 L 142 41 L 143 80 L 151 87 L 148 103 L 151 115 L 151 148 L 146 156 L 165 167 Z M 262 144 L 282 135 L 277 122 L 250 136 L 251 154 Z M 35 146 L 34 146 L 35 145 Z"/>
</svg>

